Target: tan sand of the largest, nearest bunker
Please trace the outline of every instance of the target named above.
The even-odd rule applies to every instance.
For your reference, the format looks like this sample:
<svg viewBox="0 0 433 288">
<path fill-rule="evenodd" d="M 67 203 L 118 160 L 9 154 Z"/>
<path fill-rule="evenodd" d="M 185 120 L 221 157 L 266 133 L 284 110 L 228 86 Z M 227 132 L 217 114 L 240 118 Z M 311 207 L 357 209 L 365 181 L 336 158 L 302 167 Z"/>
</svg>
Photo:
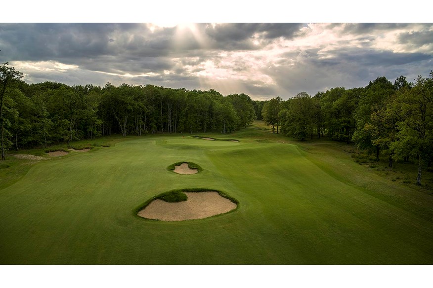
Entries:
<svg viewBox="0 0 433 288">
<path fill-rule="evenodd" d="M 187 201 L 169 203 L 160 199 L 152 201 L 138 216 L 162 221 L 203 219 L 236 209 L 236 204 L 218 192 L 184 192 Z"/>
</svg>

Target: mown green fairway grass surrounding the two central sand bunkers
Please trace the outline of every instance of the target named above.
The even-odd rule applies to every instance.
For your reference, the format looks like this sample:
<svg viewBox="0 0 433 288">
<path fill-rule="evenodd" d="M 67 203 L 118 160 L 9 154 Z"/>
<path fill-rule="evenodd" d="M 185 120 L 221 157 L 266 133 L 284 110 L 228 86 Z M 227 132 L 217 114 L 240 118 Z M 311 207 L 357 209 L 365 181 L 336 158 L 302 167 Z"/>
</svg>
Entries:
<svg viewBox="0 0 433 288">
<path fill-rule="evenodd" d="M 433 264 L 432 195 L 383 180 L 329 145 L 249 128 L 227 139 L 145 136 L 41 161 L 0 190 L 1 264 Z M 282 143 L 285 142 L 285 143 Z M 168 171 L 197 163 L 198 174 Z M 176 188 L 239 208 L 206 219 L 133 211 Z"/>
</svg>

